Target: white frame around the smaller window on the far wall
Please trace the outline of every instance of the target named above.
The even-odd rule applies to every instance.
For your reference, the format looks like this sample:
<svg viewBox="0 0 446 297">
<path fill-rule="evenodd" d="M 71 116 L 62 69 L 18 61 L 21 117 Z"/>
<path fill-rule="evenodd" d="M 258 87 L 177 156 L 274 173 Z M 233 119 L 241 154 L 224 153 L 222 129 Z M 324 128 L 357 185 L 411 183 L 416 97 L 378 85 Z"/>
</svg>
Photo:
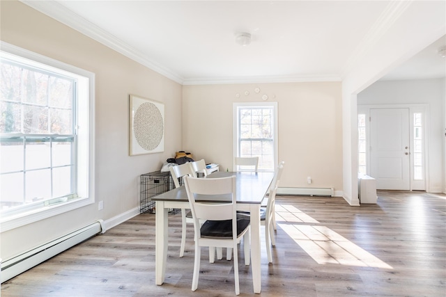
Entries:
<svg viewBox="0 0 446 297">
<path fill-rule="evenodd" d="M 236 156 L 239 156 L 238 152 L 240 151 L 240 147 L 239 147 L 239 127 L 240 127 L 240 121 L 238 118 L 238 109 L 240 107 L 242 108 L 249 108 L 249 107 L 256 107 L 259 108 L 261 106 L 267 106 L 268 108 L 270 108 L 272 106 L 272 110 L 273 110 L 273 136 L 272 136 L 272 147 L 273 147 L 273 159 L 274 159 L 274 167 L 271 168 L 270 170 L 261 170 L 259 169 L 259 171 L 271 171 L 273 172 L 275 170 L 275 168 L 277 168 L 278 166 L 278 125 L 277 125 L 277 102 L 236 102 L 233 103 L 233 159 L 235 159 Z M 235 164 L 233 163 L 233 168 L 235 167 Z"/>
</svg>

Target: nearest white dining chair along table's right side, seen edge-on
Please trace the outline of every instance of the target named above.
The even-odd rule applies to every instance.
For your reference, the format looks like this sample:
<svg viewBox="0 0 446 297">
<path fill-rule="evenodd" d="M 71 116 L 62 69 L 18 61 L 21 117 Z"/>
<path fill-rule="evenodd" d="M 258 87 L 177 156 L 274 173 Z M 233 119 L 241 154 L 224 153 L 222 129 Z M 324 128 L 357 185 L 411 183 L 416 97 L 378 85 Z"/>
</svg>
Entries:
<svg viewBox="0 0 446 297">
<path fill-rule="evenodd" d="M 268 263 L 272 263 L 271 246 L 276 246 L 274 230 L 277 230 L 275 226 L 275 200 L 277 187 L 279 186 L 280 178 L 282 177 L 282 171 L 284 170 L 285 162 L 281 161 L 277 166 L 270 188 L 268 189 L 268 197 L 265 198 L 266 206 L 262 206 L 260 209 L 260 223 L 265 227 L 265 241 L 266 241 L 266 253 L 268 255 Z M 249 213 L 238 211 L 239 218 L 249 218 Z"/>
</svg>

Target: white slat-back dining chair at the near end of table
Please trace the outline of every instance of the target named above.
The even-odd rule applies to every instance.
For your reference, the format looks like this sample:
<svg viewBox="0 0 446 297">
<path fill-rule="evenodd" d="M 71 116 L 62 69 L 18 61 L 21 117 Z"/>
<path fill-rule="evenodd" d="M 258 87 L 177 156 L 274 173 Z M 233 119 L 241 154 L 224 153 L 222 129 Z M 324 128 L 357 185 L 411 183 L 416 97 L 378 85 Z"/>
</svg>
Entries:
<svg viewBox="0 0 446 297">
<path fill-rule="evenodd" d="M 192 291 L 197 290 L 200 274 L 201 247 L 208 246 L 210 250 L 231 248 L 233 250 L 234 282 L 236 295 L 240 294 L 238 278 L 237 245 L 243 238 L 245 265 L 249 265 L 250 235 L 249 218 L 237 218 L 236 212 L 236 177 L 196 178 L 184 177 L 187 198 L 194 219 L 195 257 L 192 276 Z M 197 202 L 196 195 L 230 195 L 231 202 Z M 200 220 L 206 220 L 201 225 Z"/>
</svg>

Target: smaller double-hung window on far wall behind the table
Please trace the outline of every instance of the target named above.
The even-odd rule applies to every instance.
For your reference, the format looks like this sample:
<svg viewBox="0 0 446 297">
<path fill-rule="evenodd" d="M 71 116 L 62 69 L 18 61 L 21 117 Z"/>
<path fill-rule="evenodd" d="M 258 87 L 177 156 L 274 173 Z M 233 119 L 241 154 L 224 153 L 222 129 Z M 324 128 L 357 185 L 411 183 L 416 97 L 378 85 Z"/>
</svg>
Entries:
<svg viewBox="0 0 446 297">
<path fill-rule="evenodd" d="M 277 102 L 234 103 L 234 156 L 259 156 L 259 171 L 277 166 Z"/>
</svg>

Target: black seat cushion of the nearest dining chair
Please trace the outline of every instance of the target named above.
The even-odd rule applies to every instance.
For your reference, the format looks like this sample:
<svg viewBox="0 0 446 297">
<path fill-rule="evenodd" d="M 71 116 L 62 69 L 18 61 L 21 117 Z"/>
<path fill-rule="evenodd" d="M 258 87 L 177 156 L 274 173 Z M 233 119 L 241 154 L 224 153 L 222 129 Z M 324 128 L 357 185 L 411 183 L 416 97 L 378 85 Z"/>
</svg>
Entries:
<svg viewBox="0 0 446 297">
<path fill-rule="evenodd" d="M 249 226 L 249 218 L 237 218 L 237 236 Z M 201 226 L 201 237 L 232 238 L 232 220 L 206 220 Z"/>
</svg>

